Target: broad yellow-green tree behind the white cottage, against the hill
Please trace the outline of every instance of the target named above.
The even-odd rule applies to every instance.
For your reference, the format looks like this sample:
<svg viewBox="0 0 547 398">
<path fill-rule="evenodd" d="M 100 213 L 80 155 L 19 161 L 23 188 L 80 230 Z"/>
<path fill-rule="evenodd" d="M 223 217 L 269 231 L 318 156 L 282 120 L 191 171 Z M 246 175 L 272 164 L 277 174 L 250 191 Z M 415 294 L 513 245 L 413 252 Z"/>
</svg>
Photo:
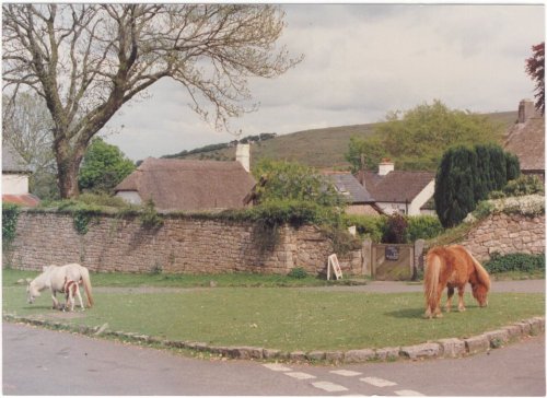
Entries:
<svg viewBox="0 0 547 398">
<path fill-rule="evenodd" d="M 361 154 L 368 168 L 375 168 L 380 159 L 387 156 L 399 169 L 433 171 L 450 147 L 497 142 L 502 130 L 486 116 L 449 109 L 435 99 L 406 113 L 388 114 L 372 137 L 350 140 L 346 160 L 353 171 L 361 166 Z"/>
</svg>

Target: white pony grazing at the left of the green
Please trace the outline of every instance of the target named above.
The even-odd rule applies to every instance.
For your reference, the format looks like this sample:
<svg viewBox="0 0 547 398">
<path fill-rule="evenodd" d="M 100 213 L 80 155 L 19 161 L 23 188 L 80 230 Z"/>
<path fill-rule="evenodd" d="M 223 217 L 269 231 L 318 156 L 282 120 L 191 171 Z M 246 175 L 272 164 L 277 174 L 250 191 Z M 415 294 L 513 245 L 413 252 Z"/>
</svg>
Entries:
<svg viewBox="0 0 547 398">
<path fill-rule="evenodd" d="M 85 296 L 88 298 L 88 306 L 93 306 L 93 296 L 91 293 L 91 279 L 88 268 L 79 264 L 68 264 L 66 266 L 48 266 L 44 267 L 44 272 L 32 280 L 26 286 L 26 295 L 28 303 L 33 304 L 34 300 L 40 295 L 44 289 L 51 291 L 51 298 L 54 300 L 54 308 L 59 308 L 57 301 L 57 292 L 65 292 L 65 281 L 70 280 L 74 282 L 83 282 L 85 289 Z M 80 302 L 81 304 L 81 302 Z"/>
</svg>

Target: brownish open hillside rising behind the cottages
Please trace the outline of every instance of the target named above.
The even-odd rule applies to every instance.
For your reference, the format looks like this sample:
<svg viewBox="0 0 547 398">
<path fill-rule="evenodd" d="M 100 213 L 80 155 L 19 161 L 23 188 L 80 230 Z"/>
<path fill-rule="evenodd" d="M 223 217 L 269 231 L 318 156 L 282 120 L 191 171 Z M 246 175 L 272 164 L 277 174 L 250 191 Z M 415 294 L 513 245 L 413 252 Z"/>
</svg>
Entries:
<svg viewBox="0 0 547 398">
<path fill-rule="evenodd" d="M 507 130 L 514 124 L 516 112 L 503 112 L 486 115 L 499 122 Z M 317 168 L 347 168 L 344 154 L 348 151 L 349 139 L 352 136 L 368 137 L 377 124 L 329 127 L 323 129 L 296 131 L 276 138 L 256 142 L 251 145 L 252 165 L 254 162 L 268 157 L 303 163 Z M 213 147 L 213 145 L 209 145 Z M 203 151 L 194 150 L 191 154 L 177 156 L 181 159 L 200 159 L 228 161 L 235 159 L 235 148 L 223 148 Z M 173 157 L 173 155 L 167 155 Z"/>
</svg>

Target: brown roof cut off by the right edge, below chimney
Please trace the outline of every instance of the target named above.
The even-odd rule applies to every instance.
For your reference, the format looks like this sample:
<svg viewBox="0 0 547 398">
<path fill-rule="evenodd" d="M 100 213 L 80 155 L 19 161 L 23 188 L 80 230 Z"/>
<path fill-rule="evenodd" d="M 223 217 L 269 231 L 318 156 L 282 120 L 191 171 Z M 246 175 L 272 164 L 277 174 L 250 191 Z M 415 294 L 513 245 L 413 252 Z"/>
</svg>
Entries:
<svg viewBox="0 0 547 398">
<path fill-rule="evenodd" d="M 545 173 L 545 117 L 516 122 L 508 131 L 505 151 L 514 153 L 524 173 Z"/>
</svg>

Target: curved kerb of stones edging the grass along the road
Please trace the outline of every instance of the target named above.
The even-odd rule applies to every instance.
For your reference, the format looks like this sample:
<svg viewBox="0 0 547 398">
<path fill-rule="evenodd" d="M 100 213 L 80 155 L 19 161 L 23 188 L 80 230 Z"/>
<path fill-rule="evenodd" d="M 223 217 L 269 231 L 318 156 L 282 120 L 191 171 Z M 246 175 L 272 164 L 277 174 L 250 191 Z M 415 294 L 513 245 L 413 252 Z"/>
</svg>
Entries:
<svg viewBox="0 0 547 398">
<path fill-rule="evenodd" d="M 146 344 L 160 344 L 167 348 L 187 349 L 198 352 L 208 352 L 226 359 L 264 360 L 287 362 L 329 362 L 329 363 L 363 363 L 369 361 L 391 362 L 398 359 L 422 360 L 433 358 L 458 358 L 498 349 L 509 342 L 521 340 L 527 336 L 537 336 L 545 332 L 545 317 L 533 317 L 504 326 L 497 330 L 464 339 L 451 338 L 428 341 L 415 346 L 386 347 L 380 349 L 360 349 L 348 351 L 293 351 L 284 352 L 260 347 L 214 347 L 205 342 L 165 340 L 156 337 L 138 335 L 125 331 L 108 330 L 105 325 L 96 327 L 71 326 L 58 321 L 25 318 L 5 314 L 7 321 L 24 323 L 57 330 L 79 332 L 81 335 L 110 336 L 125 341 Z"/>
</svg>

